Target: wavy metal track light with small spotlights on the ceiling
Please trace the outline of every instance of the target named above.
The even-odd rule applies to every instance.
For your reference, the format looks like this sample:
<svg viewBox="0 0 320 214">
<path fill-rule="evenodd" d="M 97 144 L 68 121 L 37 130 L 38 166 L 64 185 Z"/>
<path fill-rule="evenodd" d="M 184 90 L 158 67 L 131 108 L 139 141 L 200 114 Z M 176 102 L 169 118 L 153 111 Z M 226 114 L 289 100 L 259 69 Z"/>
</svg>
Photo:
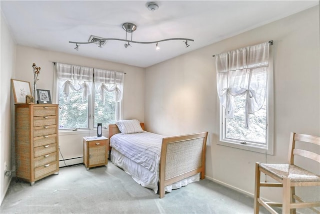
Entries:
<svg viewBox="0 0 320 214">
<path fill-rule="evenodd" d="M 98 44 L 99 48 L 102 48 L 101 45 L 105 44 L 108 40 L 117 40 L 117 41 L 123 41 L 123 42 L 127 42 L 127 44 L 124 44 L 124 47 L 131 47 L 130 43 L 138 43 L 138 44 L 156 44 L 156 50 L 158 50 L 159 46 L 157 45 L 159 42 L 165 42 L 165 41 L 170 41 L 170 40 L 185 40 L 185 46 L 186 48 L 189 47 L 189 45 L 187 44 L 188 41 L 193 42 L 194 40 L 192 39 L 185 39 L 185 38 L 170 38 L 170 39 L 164 39 L 164 40 L 158 40 L 158 41 L 152 41 L 152 42 L 139 42 L 139 41 L 133 41 L 132 40 L 132 33 L 136 30 L 136 25 L 132 24 L 132 23 L 123 23 L 122 24 L 122 29 L 125 31 L 125 40 L 123 39 L 116 39 L 116 38 L 95 38 L 94 40 L 91 39 L 91 37 L 89 38 L 88 42 L 72 42 L 69 41 L 69 43 L 75 44 L 75 50 L 78 50 L 79 44 Z M 127 40 L 126 36 L 127 33 L 131 34 L 131 40 Z"/>
</svg>

